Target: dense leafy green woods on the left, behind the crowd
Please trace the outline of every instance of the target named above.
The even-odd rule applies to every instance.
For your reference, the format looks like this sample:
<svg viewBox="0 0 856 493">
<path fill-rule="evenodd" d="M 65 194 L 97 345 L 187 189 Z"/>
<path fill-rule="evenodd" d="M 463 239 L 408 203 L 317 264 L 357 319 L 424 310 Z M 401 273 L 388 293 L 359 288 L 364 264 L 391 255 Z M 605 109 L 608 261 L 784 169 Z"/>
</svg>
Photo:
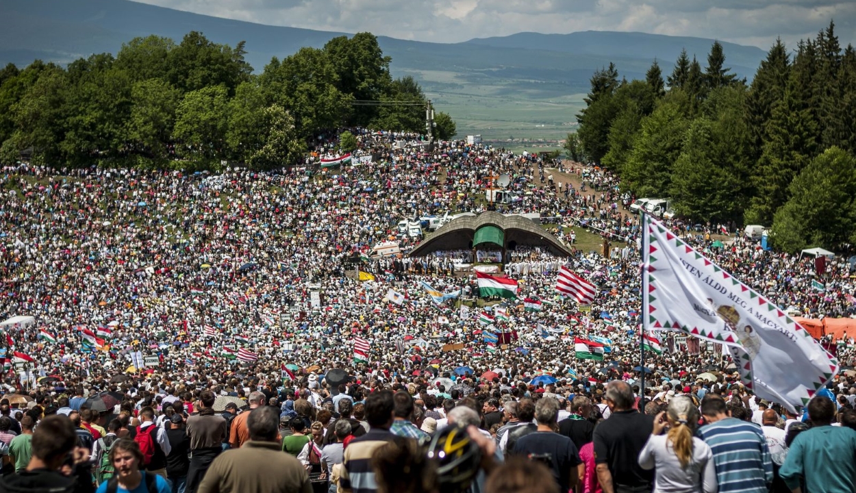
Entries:
<svg viewBox="0 0 856 493">
<path fill-rule="evenodd" d="M 391 58 L 371 33 L 274 57 L 259 74 L 244 45 L 191 32 L 179 44 L 132 39 L 116 56 L 64 68 L 9 64 L 0 69 L 0 162 L 24 152 L 56 167 L 272 169 L 302 162 L 307 144 L 330 130 L 425 134 L 425 94 L 413 78 L 391 77 Z M 435 122 L 438 139 L 455 134 L 449 115 Z"/>
</svg>

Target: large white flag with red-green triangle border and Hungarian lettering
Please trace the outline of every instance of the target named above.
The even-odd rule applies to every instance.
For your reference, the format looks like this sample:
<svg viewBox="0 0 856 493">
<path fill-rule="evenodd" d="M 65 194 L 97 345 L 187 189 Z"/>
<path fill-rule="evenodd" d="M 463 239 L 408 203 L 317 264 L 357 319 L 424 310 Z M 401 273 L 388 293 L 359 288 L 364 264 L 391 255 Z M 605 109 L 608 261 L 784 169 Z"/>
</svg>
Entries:
<svg viewBox="0 0 856 493">
<path fill-rule="evenodd" d="M 839 371 L 807 330 L 763 294 L 645 216 L 643 321 L 728 347 L 740 381 L 794 412 Z"/>
</svg>

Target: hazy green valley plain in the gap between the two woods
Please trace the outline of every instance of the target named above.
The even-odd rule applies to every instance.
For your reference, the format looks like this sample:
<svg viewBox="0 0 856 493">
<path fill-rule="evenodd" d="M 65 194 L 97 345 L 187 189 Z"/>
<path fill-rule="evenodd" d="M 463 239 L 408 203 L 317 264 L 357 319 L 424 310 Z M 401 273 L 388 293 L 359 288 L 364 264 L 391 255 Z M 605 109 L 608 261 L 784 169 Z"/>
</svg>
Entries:
<svg viewBox="0 0 856 493">
<path fill-rule="evenodd" d="M 569 86 L 538 81 L 506 80 L 478 74 L 407 70 L 437 111 L 455 120 L 458 137 L 480 134 L 482 140 L 514 150 L 561 147 L 576 129 L 576 114 L 585 106 Z"/>
</svg>

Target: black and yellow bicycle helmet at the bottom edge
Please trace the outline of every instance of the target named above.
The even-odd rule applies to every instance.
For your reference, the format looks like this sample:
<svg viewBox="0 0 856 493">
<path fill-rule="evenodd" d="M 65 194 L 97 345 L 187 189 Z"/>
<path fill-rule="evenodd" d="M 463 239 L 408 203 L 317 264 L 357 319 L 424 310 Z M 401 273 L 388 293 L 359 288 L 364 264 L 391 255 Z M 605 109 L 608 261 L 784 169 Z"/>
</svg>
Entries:
<svg viewBox="0 0 856 493">
<path fill-rule="evenodd" d="M 470 438 L 467 429 L 450 425 L 432 437 L 425 438 L 429 460 L 437 463 L 437 478 L 443 493 L 467 490 L 479 472 L 481 449 Z"/>
</svg>

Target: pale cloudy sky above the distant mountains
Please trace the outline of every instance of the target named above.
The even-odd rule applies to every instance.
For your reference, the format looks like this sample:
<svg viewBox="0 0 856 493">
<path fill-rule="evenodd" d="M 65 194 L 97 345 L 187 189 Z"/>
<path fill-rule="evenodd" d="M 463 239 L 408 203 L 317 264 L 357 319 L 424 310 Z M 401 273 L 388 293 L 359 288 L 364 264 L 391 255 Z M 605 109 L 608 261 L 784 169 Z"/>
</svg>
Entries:
<svg viewBox="0 0 856 493">
<path fill-rule="evenodd" d="M 275 26 L 455 43 L 520 32 L 639 31 L 768 49 L 835 20 L 856 45 L 856 0 L 136 0 Z"/>
</svg>

